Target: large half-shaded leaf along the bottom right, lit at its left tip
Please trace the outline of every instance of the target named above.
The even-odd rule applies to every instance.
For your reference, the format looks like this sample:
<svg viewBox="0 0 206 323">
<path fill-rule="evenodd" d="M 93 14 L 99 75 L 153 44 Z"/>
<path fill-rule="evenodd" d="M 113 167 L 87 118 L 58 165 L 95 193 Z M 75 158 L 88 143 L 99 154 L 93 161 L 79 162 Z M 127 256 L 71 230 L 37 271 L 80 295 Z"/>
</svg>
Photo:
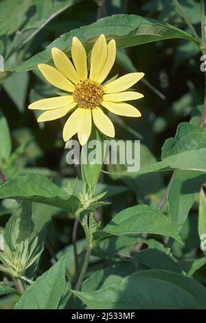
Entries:
<svg viewBox="0 0 206 323">
<path fill-rule="evenodd" d="M 90 309 L 206 309 L 206 289 L 170 271 L 147 270 L 98 291 L 72 291 Z"/>
</svg>

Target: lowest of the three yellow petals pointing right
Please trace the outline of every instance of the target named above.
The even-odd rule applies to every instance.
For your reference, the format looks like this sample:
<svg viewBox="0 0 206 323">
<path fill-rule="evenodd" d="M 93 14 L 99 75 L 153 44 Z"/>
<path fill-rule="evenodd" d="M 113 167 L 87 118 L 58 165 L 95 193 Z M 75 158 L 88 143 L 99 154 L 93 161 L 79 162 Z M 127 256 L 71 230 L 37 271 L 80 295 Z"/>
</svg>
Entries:
<svg viewBox="0 0 206 323">
<path fill-rule="evenodd" d="M 117 115 L 125 117 L 141 117 L 141 113 L 133 105 L 124 102 L 102 102 L 103 107 Z"/>
</svg>

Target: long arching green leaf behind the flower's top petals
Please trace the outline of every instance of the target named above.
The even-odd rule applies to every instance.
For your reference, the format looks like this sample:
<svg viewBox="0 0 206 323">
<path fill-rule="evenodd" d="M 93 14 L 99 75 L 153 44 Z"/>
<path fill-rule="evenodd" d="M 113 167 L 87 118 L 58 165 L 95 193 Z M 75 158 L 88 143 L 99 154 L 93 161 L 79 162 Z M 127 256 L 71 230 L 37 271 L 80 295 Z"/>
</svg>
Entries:
<svg viewBox="0 0 206 323">
<path fill-rule="evenodd" d="M 197 43 L 196 39 L 187 32 L 180 30 L 168 23 L 155 19 L 148 19 L 135 14 L 115 14 L 100 19 L 91 25 L 80 27 L 67 32 L 52 42 L 43 52 L 34 55 L 15 71 L 28 71 L 40 63 L 48 63 L 52 59 L 52 47 L 58 47 L 70 54 L 72 37 L 76 36 L 82 41 L 87 50 L 91 49 L 96 38 L 105 34 L 107 40 L 114 38 L 117 48 L 130 47 L 152 41 L 162 41 L 171 38 L 185 38 Z"/>
</svg>

